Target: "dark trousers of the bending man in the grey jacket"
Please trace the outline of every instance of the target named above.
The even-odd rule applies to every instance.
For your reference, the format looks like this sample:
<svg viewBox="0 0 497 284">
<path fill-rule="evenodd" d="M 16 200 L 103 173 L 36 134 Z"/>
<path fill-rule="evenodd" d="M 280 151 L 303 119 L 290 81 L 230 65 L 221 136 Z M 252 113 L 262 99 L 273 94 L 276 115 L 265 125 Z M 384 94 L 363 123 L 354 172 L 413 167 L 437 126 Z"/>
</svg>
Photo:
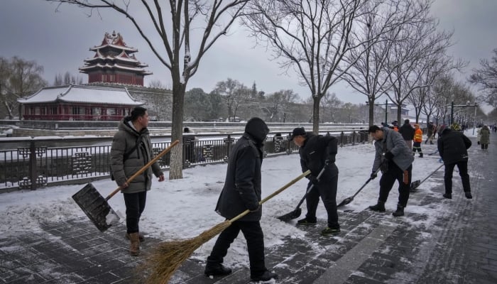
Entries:
<svg viewBox="0 0 497 284">
<path fill-rule="evenodd" d="M 388 170 L 381 175 L 380 179 L 380 197 L 378 200 L 386 202 L 388 194 L 392 190 L 395 180 L 398 181 L 398 204 L 407 206 L 409 200 L 410 182 L 413 177 L 413 165 L 410 165 L 406 170 L 408 174 L 408 182 L 404 182 L 404 171 L 401 170 L 393 161 L 388 162 Z"/>
</svg>

